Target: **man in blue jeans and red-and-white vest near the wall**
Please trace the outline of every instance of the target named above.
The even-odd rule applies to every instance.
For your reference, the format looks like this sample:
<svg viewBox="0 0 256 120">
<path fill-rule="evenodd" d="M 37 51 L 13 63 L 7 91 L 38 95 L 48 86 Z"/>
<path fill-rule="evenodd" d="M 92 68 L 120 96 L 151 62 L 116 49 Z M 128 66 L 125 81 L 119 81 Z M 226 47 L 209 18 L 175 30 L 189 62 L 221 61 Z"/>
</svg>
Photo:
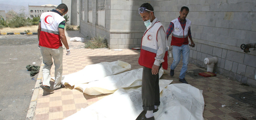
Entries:
<svg viewBox="0 0 256 120">
<path fill-rule="evenodd" d="M 180 55 L 182 54 L 182 68 L 180 71 L 180 82 L 188 84 L 185 80 L 186 71 L 188 69 L 189 62 L 189 52 L 190 48 L 188 46 L 188 38 L 191 41 L 191 47 L 195 47 L 195 43 L 192 40 L 190 25 L 191 21 L 186 17 L 188 15 L 189 9 L 186 6 L 183 6 L 180 10 L 180 16 L 172 22 L 170 22 L 170 26 L 168 27 L 166 34 L 167 39 L 169 35 L 172 33 L 172 54 L 173 54 L 173 62 L 171 65 L 170 75 L 174 76 L 174 69 L 180 62 Z"/>
</svg>

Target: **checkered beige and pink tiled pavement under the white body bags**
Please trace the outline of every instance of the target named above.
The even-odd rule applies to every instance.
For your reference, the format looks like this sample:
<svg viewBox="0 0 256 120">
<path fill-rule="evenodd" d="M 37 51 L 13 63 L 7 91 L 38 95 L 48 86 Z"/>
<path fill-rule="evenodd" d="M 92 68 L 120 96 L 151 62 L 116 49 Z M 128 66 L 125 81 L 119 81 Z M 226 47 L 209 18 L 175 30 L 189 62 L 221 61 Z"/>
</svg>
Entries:
<svg viewBox="0 0 256 120">
<path fill-rule="evenodd" d="M 70 47 L 71 55 L 64 55 L 63 57 L 63 75 L 80 71 L 86 65 L 117 60 L 130 63 L 132 69 L 141 68 L 141 66 L 138 65 L 139 51 L 132 49 L 123 49 L 122 51 L 114 51 L 111 49 L 83 49 L 82 47 L 77 47 L 82 45 L 82 42 L 74 43 L 68 41 L 68 43 L 75 45 L 74 47 Z M 172 63 L 172 60 L 172 58 L 169 58 L 168 63 Z M 26 119 L 62 120 L 78 112 L 81 108 L 86 108 L 108 95 L 90 96 L 83 93 L 81 90 L 74 89 L 74 87 L 70 85 L 51 93 L 44 92 L 39 87 L 42 85 L 42 67 L 43 64 L 41 65 Z M 173 77 L 163 75 L 161 79 L 170 79 L 174 80 L 172 83 L 180 83 L 178 81 L 178 75 L 181 67 L 182 61 L 175 69 L 175 75 Z M 189 64 L 188 70 L 193 69 L 201 68 Z M 169 70 L 170 67 L 168 67 L 168 71 Z M 206 71 L 205 69 L 202 70 Z M 54 77 L 54 66 L 52 67 L 51 73 L 52 77 Z M 255 120 L 252 116 L 256 116 L 256 108 L 230 97 L 229 94 L 248 91 L 256 92 L 256 88 L 240 85 L 240 83 L 219 74 L 217 74 L 216 77 L 203 77 L 198 79 L 186 75 L 186 80 L 190 85 L 203 90 L 205 102 L 203 116 L 205 120 Z M 226 105 L 226 107 L 222 107 L 222 105 Z"/>
</svg>

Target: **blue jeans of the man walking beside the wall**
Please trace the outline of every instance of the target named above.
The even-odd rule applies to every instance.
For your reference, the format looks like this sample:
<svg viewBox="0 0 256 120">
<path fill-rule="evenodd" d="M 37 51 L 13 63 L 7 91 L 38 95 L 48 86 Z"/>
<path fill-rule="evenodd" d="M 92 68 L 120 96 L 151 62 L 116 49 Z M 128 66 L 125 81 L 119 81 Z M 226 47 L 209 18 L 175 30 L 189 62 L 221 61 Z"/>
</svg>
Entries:
<svg viewBox="0 0 256 120">
<path fill-rule="evenodd" d="M 189 46 L 188 45 L 181 45 L 179 46 L 172 46 L 172 54 L 173 54 L 173 62 L 171 65 L 171 69 L 174 70 L 177 65 L 180 63 L 180 54 L 182 54 L 182 68 L 180 71 L 180 79 L 184 79 L 186 75 L 186 71 L 188 69 L 188 62 L 189 62 Z"/>
</svg>

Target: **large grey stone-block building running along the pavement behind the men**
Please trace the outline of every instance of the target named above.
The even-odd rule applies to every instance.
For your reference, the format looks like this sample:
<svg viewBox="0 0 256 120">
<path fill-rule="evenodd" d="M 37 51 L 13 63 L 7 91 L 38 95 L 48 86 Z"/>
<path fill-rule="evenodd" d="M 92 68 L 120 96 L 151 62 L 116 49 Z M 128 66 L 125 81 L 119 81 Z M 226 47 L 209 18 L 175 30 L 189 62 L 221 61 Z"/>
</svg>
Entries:
<svg viewBox="0 0 256 120">
<path fill-rule="evenodd" d="M 253 0 L 80 0 L 80 32 L 105 37 L 110 49 L 140 47 L 146 27 L 138 8 L 145 2 L 152 4 L 165 29 L 179 17 L 180 8 L 188 6 L 196 44 L 190 49 L 190 63 L 206 68 L 204 59 L 217 57 L 214 72 L 256 87 L 256 50 L 240 49 L 241 44 L 256 43 Z"/>
</svg>

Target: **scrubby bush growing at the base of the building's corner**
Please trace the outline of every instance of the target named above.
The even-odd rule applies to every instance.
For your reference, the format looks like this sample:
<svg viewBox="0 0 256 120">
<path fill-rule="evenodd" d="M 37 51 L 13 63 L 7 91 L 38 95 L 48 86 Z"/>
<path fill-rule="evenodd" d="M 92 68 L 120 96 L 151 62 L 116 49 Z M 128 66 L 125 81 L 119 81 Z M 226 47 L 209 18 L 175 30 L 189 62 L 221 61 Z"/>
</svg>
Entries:
<svg viewBox="0 0 256 120">
<path fill-rule="evenodd" d="M 96 48 L 108 48 L 108 43 L 107 40 L 104 39 L 104 37 L 96 36 L 87 43 L 85 43 L 85 48 L 91 48 L 91 49 L 96 49 Z"/>
</svg>

